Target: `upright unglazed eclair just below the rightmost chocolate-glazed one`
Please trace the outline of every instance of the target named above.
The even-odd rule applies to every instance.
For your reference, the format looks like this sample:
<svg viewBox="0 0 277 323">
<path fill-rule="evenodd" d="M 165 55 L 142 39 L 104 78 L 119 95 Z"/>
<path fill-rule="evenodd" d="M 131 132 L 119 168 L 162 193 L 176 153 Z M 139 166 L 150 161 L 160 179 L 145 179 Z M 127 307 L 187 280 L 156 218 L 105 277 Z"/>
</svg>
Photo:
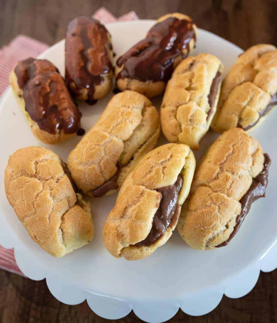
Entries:
<svg viewBox="0 0 277 323">
<path fill-rule="evenodd" d="M 188 57 L 177 66 L 161 106 L 162 130 L 170 142 L 199 148 L 216 112 L 222 72 L 222 63 L 211 54 Z"/>
</svg>

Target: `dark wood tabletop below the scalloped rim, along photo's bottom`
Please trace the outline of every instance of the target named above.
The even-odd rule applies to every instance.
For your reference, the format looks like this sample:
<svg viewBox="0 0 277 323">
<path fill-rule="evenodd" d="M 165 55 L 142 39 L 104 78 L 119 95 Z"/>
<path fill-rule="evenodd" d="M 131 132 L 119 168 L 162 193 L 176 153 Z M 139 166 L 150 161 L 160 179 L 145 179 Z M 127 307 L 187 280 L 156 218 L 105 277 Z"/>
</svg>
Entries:
<svg viewBox="0 0 277 323">
<path fill-rule="evenodd" d="M 275 323 L 277 322 L 277 270 L 261 273 L 256 287 L 246 296 L 223 296 L 211 313 L 191 317 L 181 310 L 170 323 Z M 133 312 L 119 320 L 106 320 L 94 314 L 86 302 L 69 306 L 48 291 L 45 280 L 28 278 L 0 270 L 0 322 L 2 323 L 104 323 L 142 322 Z"/>
</svg>

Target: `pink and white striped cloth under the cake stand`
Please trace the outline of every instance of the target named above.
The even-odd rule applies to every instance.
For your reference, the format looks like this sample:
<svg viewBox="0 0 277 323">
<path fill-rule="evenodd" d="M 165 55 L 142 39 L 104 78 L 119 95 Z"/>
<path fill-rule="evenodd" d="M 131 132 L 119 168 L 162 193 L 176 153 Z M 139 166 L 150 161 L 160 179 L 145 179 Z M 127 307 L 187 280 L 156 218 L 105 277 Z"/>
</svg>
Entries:
<svg viewBox="0 0 277 323">
<path fill-rule="evenodd" d="M 136 20 L 138 16 L 134 11 L 130 11 L 126 15 L 119 18 L 113 16 L 108 10 L 101 7 L 94 15 L 94 18 L 100 20 L 102 23 L 111 23 L 115 21 Z M 0 95 L 4 92 L 9 83 L 9 74 L 17 61 L 27 57 L 37 57 L 44 52 L 48 45 L 40 41 L 24 36 L 18 35 L 13 39 L 8 46 L 0 50 Z M 8 270 L 12 273 L 23 275 L 16 264 L 13 249 L 5 249 L 0 246 L 0 269 Z"/>
</svg>

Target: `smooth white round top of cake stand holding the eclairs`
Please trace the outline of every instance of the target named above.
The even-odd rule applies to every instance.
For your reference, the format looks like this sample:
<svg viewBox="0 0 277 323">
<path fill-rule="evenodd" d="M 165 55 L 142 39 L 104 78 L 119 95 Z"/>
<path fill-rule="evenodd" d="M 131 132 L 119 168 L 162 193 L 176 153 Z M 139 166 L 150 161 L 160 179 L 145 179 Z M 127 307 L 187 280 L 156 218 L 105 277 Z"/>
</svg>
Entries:
<svg viewBox="0 0 277 323">
<path fill-rule="evenodd" d="M 107 28 L 112 35 L 114 51 L 117 56 L 144 38 L 153 24 L 153 20 L 109 24 Z M 199 29 L 194 54 L 200 52 L 211 53 L 219 57 L 224 64 L 226 74 L 242 50 L 214 34 Z M 49 48 L 40 55 L 40 58 L 52 61 L 63 74 L 64 41 Z M 89 130 L 93 126 L 111 97 L 112 93 L 91 107 L 79 106 L 83 114 L 82 127 L 85 130 Z M 153 99 L 153 102 L 159 107 L 161 98 Z M 92 293 L 115 297 L 117 300 L 128 300 L 126 311 L 127 308 L 130 311 L 130 307 L 135 308 L 137 302 L 144 301 L 159 301 L 178 305 L 181 300 L 196 295 L 196 293 L 202 293 L 207 288 L 218 286 L 226 279 L 231 279 L 232 276 L 243 272 L 265 255 L 276 242 L 275 193 L 277 182 L 274 181 L 277 176 L 277 151 L 274 145 L 276 123 L 277 111 L 273 110 L 262 125 L 251 132 L 251 135 L 260 141 L 263 150 L 269 153 L 272 159 L 267 194 L 265 199 L 261 198 L 253 204 L 239 233 L 226 247 L 207 252 L 193 250 L 175 231 L 163 247 L 158 248 L 153 255 L 143 260 L 128 262 L 124 259 L 116 259 L 106 251 L 102 239 L 105 219 L 116 200 L 116 194 L 114 194 L 91 200 L 95 226 L 95 235 L 91 244 L 61 259 L 56 259 L 40 249 L 28 236 L 27 231 L 6 200 L 4 185 L 1 185 L 0 191 L 0 244 L 9 248 L 15 247 L 16 259 L 23 272 L 32 279 L 47 277 L 48 285 L 51 285 L 51 281 L 55 281 L 55 284 L 59 282 L 61 286 L 74 286 L 79 291 L 85 289 Z M 17 149 L 31 145 L 45 146 L 66 161 L 69 152 L 81 139 L 76 136 L 74 139 L 56 146 L 47 146 L 38 141 L 20 113 L 10 89 L 2 100 L 0 129 L 2 129 L 2 158 L 0 160 L 2 183 L 4 182 L 3 175 L 8 156 Z M 198 161 L 216 138 L 217 135 L 208 132 L 200 143 L 201 149 L 196 152 Z M 159 144 L 165 142 L 165 139 L 161 138 Z M 53 288 L 54 286 L 52 286 Z M 68 297 L 70 299 L 69 294 Z M 63 301 L 70 303 L 70 300 Z M 75 301 L 72 300 L 72 302 Z M 116 304 L 112 318 L 117 316 L 118 305 Z M 95 308 L 93 309 L 95 310 Z"/>
</svg>

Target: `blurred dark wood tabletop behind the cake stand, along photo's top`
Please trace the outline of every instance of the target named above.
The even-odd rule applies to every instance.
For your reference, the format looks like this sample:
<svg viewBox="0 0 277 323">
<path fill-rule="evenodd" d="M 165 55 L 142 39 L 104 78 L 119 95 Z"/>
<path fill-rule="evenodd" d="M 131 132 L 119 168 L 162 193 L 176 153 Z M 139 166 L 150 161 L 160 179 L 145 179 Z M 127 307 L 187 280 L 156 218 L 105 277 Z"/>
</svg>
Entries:
<svg viewBox="0 0 277 323">
<path fill-rule="evenodd" d="M 70 5 L 63 0 L 1 0 L 0 46 L 18 34 L 53 45 L 64 38 L 70 19 L 101 6 L 115 16 L 134 10 L 140 18 L 152 19 L 178 11 L 243 49 L 261 42 L 277 45 L 276 0 L 83 0 Z"/>
</svg>

